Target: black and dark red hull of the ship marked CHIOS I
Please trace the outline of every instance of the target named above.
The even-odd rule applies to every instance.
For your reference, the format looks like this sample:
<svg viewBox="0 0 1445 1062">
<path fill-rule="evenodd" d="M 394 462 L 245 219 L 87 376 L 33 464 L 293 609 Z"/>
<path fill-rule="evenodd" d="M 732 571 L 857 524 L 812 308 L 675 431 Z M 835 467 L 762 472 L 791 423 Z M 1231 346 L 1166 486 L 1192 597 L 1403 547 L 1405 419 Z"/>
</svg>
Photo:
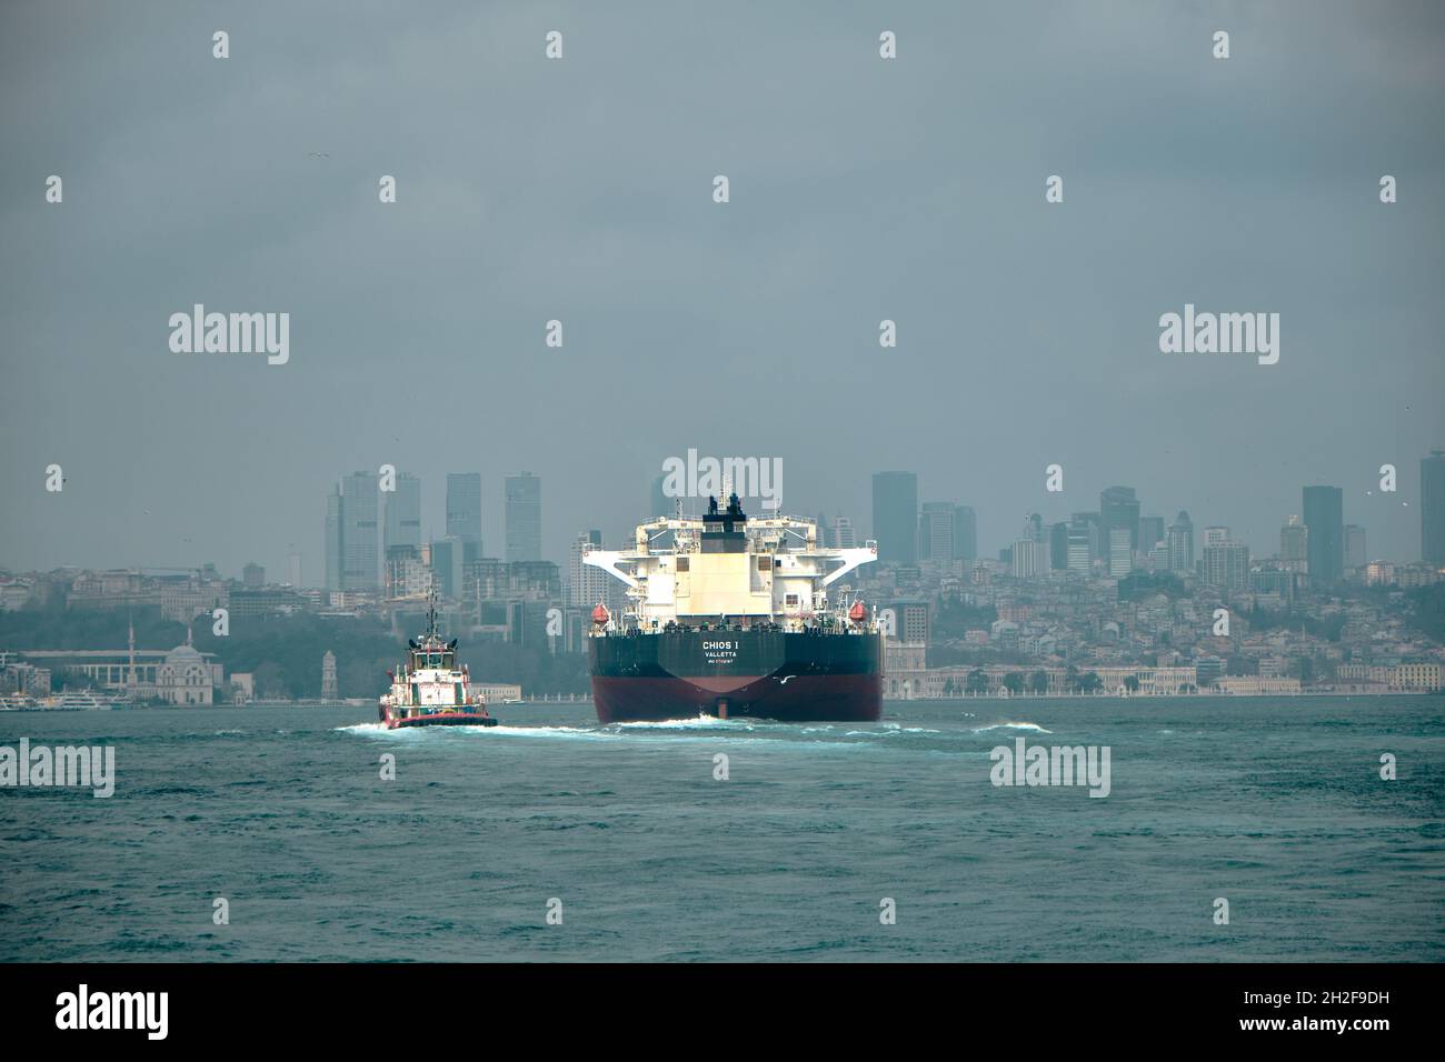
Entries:
<svg viewBox="0 0 1445 1062">
<path fill-rule="evenodd" d="M 588 639 L 601 722 L 717 715 L 873 722 L 883 643 L 868 634 L 675 631 Z"/>
</svg>

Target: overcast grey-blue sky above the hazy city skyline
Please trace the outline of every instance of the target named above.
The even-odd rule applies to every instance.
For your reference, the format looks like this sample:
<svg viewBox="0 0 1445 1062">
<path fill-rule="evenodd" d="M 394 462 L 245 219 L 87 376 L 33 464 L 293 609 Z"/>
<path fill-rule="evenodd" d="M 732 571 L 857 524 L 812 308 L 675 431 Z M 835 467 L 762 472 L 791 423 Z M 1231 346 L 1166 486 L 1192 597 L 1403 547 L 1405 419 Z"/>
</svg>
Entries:
<svg viewBox="0 0 1445 1062">
<path fill-rule="evenodd" d="M 0 565 L 319 584 L 329 485 L 383 462 L 435 536 L 481 471 L 493 555 L 542 475 L 561 561 L 689 446 L 861 529 L 916 470 L 987 553 L 1117 483 L 1269 555 L 1328 483 L 1418 559 L 1442 116 L 1435 3 L 7 1 Z M 172 353 L 197 302 L 289 312 L 289 363 Z M 1186 302 L 1280 314 L 1279 364 L 1162 354 Z"/>
</svg>

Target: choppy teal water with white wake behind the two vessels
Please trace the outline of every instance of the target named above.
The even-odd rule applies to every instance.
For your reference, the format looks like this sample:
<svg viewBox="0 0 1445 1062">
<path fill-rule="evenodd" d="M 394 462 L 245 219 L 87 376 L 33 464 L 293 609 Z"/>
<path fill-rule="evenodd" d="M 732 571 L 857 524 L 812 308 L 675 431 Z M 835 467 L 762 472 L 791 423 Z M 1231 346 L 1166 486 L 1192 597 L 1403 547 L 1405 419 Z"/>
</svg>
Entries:
<svg viewBox="0 0 1445 1062">
<path fill-rule="evenodd" d="M 4 712 L 0 744 L 113 744 L 118 782 L 0 789 L 0 959 L 1441 961 L 1442 708 L 598 727 L 536 705 L 403 733 L 370 708 Z M 988 750 L 1017 735 L 1110 746 L 1111 795 L 991 786 Z"/>
</svg>

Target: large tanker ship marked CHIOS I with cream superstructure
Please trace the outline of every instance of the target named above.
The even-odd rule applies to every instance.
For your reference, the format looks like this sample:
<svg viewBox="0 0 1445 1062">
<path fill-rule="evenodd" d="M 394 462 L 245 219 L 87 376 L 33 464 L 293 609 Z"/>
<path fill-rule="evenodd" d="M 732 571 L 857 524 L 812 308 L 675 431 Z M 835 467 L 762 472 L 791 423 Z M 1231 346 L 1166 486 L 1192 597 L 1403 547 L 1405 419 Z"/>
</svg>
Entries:
<svg viewBox="0 0 1445 1062">
<path fill-rule="evenodd" d="M 877 556 L 876 542 L 822 546 L 808 519 L 750 520 L 737 494 L 721 510 L 709 497 L 701 519 L 639 524 L 630 551 L 587 549 L 627 598 L 620 614 L 592 610 L 598 721 L 876 721 L 883 626 L 840 579 Z"/>
</svg>

